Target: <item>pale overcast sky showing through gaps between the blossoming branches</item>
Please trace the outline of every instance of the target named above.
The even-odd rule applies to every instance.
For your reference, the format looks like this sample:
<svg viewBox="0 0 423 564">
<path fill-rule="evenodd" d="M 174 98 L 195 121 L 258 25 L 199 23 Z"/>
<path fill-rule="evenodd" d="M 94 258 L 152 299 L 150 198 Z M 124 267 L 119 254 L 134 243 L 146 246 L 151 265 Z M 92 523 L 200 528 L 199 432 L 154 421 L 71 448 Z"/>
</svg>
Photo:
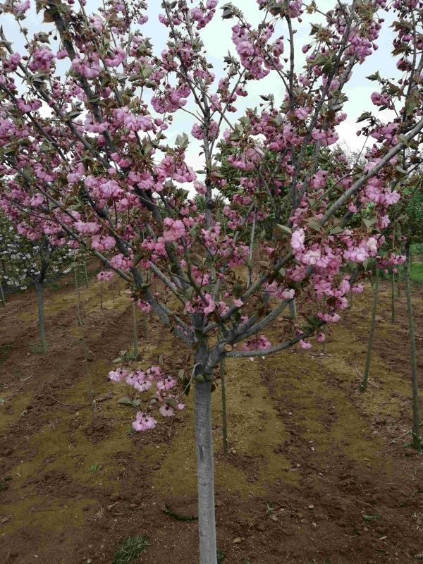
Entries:
<svg viewBox="0 0 423 564">
<path fill-rule="evenodd" d="M 35 1 L 32 1 L 32 4 L 35 5 Z M 152 43 L 154 44 L 155 50 L 158 54 L 165 47 L 167 40 L 167 28 L 164 27 L 164 25 L 161 25 L 158 20 L 158 15 L 161 11 L 160 4 L 160 0 L 148 1 L 149 8 L 147 13 L 149 21 L 147 24 L 142 26 L 145 35 L 152 39 Z M 219 0 L 214 20 L 212 20 L 212 23 L 207 25 L 207 27 L 201 32 L 204 45 L 209 54 L 209 60 L 214 65 L 216 80 L 219 80 L 219 77 L 223 73 L 223 56 L 225 56 L 228 51 L 235 53 L 235 48 L 231 42 L 231 26 L 234 22 L 233 20 L 221 19 L 221 10 L 219 8 L 223 6 L 223 4 L 226 4 L 226 0 Z M 255 25 L 262 19 L 263 13 L 259 11 L 255 0 L 233 0 L 233 4 L 243 10 L 247 20 L 252 23 L 252 25 Z M 327 11 L 333 8 L 336 1 L 319 0 L 317 4 L 319 10 Z M 75 3 L 75 6 L 76 5 L 77 3 Z M 91 13 L 97 11 L 98 5 L 97 0 L 87 0 L 87 12 Z M 51 29 L 51 24 L 42 23 L 42 13 L 37 15 L 35 13 L 35 9 L 32 8 L 30 13 L 28 13 L 28 16 L 27 20 L 25 20 L 25 26 L 30 30 L 31 34 Z M 353 78 L 344 89 L 345 94 L 348 96 L 348 102 L 344 106 L 344 109 L 348 114 L 348 119 L 338 126 L 338 134 L 340 135 L 341 140 L 350 146 L 351 149 L 361 149 L 362 142 L 364 141 L 362 137 L 357 137 L 357 135 L 355 135 L 355 132 L 357 131 L 357 124 L 355 121 L 357 117 L 360 116 L 363 111 L 374 109 L 374 106 L 370 101 L 370 95 L 374 91 L 375 84 L 374 82 L 367 80 L 366 76 L 374 73 L 376 70 L 378 70 L 382 76 L 387 78 L 392 78 L 393 76 L 398 75 L 398 71 L 396 71 L 396 61 L 391 55 L 393 35 L 389 26 L 392 23 L 392 17 L 390 14 L 383 11 L 381 11 L 381 16 L 385 17 L 386 21 L 377 41 L 379 49 L 370 56 L 364 64 L 355 67 Z M 305 61 L 305 55 L 302 54 L 301 47 L 309 41 L 310 22 L 319 21 L 321 21 L 321 16 L 318 14 L 313 14 L 312 16 L 308 16 L 306 14 L 302 19 L 302 23 L 296 22 L 295 42 L 297 51 L 295 54 L 295 62 L 298 70 L 300 70 Z M 22 37 L 20 37 L 13 18 L 10 15 L 0 16 L 0 24 L 4 26 L 8 39 L 15 44 L 15 50 L 20 51 L 23 44 Z M 277 31 L 277 35 L 285 35 L 283 27 Z M 288 51 L 288 42 L 286 42 L 286 51 Z M 281 100 L 284 94 L 281 79 L 278 78 L 276 73 L 271 73 L 264 80 L 251 82 L 248 87 L 248 92 L 250 93 L 249 97 L 238 99 L 237 106 L 240 109 L 240 112 L 235 114 L 234 117 L 239 117 L 245 107 L 258 106 L 261 102 L 259 94 L 269 94 L 269 92 L 271 92 L 276 97 L 276 100 Z M 187 107 L 189 108 L 189 106 Z M 173 130 L 168 132 L 169 141 L 176 137 L 178 133 L 190 133 L 192 123 L 193 118 L 190 118 L 188 114 L 181 111 L 178 112 L 174 118 Z M 192 164 L 194 168 L 199 168 L 202 164 L 202 159 L 201 157 L 198 157 L 198 152 L 199 147 L 197 143 L 190 143 L 188 156 L 190 164 Z"/>
</svg>

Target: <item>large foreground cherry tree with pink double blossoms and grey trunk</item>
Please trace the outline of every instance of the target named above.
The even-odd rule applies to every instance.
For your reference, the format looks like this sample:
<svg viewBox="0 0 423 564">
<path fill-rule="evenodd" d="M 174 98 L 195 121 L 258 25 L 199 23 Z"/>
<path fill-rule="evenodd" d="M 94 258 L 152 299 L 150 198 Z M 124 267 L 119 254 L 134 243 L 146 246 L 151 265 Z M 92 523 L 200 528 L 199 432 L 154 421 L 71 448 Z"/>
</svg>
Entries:
<svg viewBox="0 0 423 564">
<path fill-rule="evenodd" d="M 29 237 L 41 230 L 90 248 L 192 351 L 192 376 L 179 381 L 158 367 L 121 367 L 111 378 L 156 391 L 138 430 L 155 426 L 157 406 L 165 417 L 182 407 L 180 393 L 195 384 L 202 564 L 216 564 L 215 367 L 324 339 L 351 287 L 360 290 L 345 266 L 374 259 L 384 244 L 402 155 L 411 148 L 419 159 L 423 129 L 419 1 L 333 1 L 322 13 L 314 1 L 257 0 L 257 26 L 225 4 L 233 49 L 218 76 L 202 42 L 217 4 L 164 0 L 161 53 L 143 32 L 142 0 L 106 0 L 93 13 L 85 1 L 37 0 L 45 31 L 32 37 L 30 1 L 7 0 L 24 46 L 0 32 L 4 212 Z M 384 11 L 395 20 L 398 78 L 369 77 L 375 92 L 359 118 L 368 147 L 351 162 L 335 146 L 345 87 L 376 51 Z M 311 35 L 301 45 L 305 18 Z M 263 92 L 243 111 L 250 87 L 268 75 L 283 99 Z M 180 114 L 192 129 L 171 142 Z M 192 144 L 200 171 L 187 156 Z M 159 292 L 147 282 L 154 278 Z M 301 316 L 283 317 L 293 300 Z M 266 328 L 280 319 L 270 342 Z"/>
</svg>

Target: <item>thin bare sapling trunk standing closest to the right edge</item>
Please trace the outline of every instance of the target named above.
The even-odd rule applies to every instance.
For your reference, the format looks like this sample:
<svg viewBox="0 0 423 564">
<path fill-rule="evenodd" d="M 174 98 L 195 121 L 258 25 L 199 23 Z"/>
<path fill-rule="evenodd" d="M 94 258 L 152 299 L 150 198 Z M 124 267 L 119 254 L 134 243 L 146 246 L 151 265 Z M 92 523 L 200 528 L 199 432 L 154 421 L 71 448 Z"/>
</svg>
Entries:
<svg viewBox="0 0 423 564">
<path fill-rule="evenodd" d="M 422 440 L 420 439 L 420 414 L 419 414 L 419 388 L 417 385 L 417 355 L 416 355 L 416 339 L 415 324 L 412 314 L 412 299 L 410 285 L 410 245 L 406 248 L 405 260 L 405 294 L 407 295 L 407 312 L 408 312 L 408 335 L 410 337 L 411 349 L 411 383 L 412 383 L 412 446 L 420 450 L 422 448 Z"/>
</svg>

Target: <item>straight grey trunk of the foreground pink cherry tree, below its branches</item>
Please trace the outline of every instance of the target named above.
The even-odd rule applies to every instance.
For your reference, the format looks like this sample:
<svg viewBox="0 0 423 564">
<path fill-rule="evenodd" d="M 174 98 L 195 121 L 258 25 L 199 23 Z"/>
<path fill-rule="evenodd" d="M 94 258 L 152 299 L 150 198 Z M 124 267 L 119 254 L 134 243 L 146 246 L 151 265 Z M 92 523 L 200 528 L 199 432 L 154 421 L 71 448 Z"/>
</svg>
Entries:
<svg viewBox="0 0 423 564">
<path fill-rule="evenodd" d="M 200 564 L 217 564 L 211 388 L 211 381 L 195 383 L 195 448 L 197 451 Z"/>
</svg>

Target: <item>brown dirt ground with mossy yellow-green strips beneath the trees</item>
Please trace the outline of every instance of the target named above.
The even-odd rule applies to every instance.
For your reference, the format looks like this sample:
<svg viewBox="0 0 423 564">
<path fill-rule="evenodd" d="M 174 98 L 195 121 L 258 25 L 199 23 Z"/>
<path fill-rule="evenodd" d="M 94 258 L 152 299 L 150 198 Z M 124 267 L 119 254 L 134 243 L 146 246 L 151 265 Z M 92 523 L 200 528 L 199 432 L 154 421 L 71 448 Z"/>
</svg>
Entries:
<svg viewBox="0 0 423 564">
<path fill-rule="evenodd" d="M 163 512 L 165 504 L 196 511 L 191 400 L 173 422 L 131 433 L 133 412 L 117 403 L 129 390 L 106 378 L 118 350 L 130 346 L 128 298 L 112 300 L 107 290 L 100 310 L 97 283 L 81 293 L 87 364 L 71 286 L 47 292 L 45 357 L 31 346 L 35 295 L 13 295 L 0 312 L 0 562 L 111 563 L 123 539 L 147 534 L 137 563 L 194 564 L 196 523 Z M 422 290 L 413 299 L 423 384 Z M 411 563 L 423 554 L 422 455 L 407 436 L 391 443 L 410 429 L 410 363 L 405 298 L 395 325 L 389 300 L 386 286 L 366 393 L 358 383 L 369 291 L 324 353 L 295 348 L 227 363 L 228 458 L 219 391 L 213 399 L 224 564 Z M 159 353 L 177 358 L 178 349 L 149 321 L 146 363 Z M 87 366 L 99 400 L 94 424 Z M 94 463 L 102 467 L 88 472 Z"/>
</svg>

